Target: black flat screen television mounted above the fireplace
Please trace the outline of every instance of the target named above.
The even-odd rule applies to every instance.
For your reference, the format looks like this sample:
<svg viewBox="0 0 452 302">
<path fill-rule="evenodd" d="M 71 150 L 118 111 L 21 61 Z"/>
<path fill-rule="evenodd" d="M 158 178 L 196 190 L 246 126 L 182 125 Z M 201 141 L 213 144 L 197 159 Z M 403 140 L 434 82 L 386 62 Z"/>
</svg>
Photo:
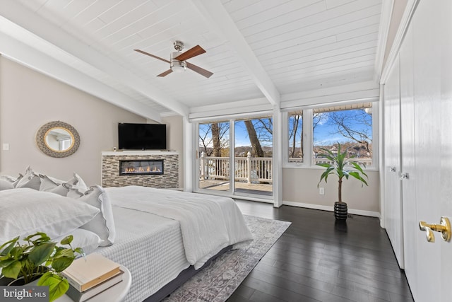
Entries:
<svg viewBox="0 0 452 302">
<path fill-rule="evenodd" d="M 167 149 L 166 124 L 118 124 L 118 149 Z"/>
</svg>

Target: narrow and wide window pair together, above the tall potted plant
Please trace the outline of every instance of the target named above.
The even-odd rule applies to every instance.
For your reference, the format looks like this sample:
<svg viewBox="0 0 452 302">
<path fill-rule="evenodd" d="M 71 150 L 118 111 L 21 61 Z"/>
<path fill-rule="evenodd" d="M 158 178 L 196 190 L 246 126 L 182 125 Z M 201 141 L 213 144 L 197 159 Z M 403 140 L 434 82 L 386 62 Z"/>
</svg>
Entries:
<svg viewBox="0 0 452 302">
<path fill-rule="evenodd" d="M 321 148 L 334 150 L 339 142 L 350 156 L 375 165 L 373 107 L 373 103 L 359 103 L 287 112 L 287 163 L 315 165 L 323 161 Z"/>
</svg>

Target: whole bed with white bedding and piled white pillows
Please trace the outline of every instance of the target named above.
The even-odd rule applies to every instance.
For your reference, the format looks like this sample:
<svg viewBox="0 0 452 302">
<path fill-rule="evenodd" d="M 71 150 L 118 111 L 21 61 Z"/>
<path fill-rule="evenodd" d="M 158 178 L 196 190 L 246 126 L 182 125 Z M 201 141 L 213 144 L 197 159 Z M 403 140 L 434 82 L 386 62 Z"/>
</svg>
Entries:
<svg viewBox="0 0 452 302">
<path fill-rule="evenodd" d="M 74 178 L 79 176 L 74 174 Z M 80 181 L 59 182 L 40 175 L 39 187 L 0 191 L 0 211 L 25 215 L 24 221 L 19 219 L 23 225 L 8 227 L 6 233 L 26 235 L 44 228 L 51 238 L 75 234 L 74 245 L 83 246 L 88 253 L 100 252 L 130 270 L 132 286 L 126 301 L 161 301 L 220 253 L 252 240 L 233 199 L 138 186 L 88 189 Z M 66 209 L 67 204 L 77 207 Z M 82 211 L 82 204 L 89 208 Z M 24 207 L 30 213 L 24 214 Z M 67 225 L 30 224 L 39 221 L 30 215 L 40 218 L 42 207 L 46 223 L 58 217 Z M 65 216 L 68 212 L 71 215 Z M 8 216 L 2 218 L 0 213 L 0 223 Z M 76 222 L 73 216 L 78 217 Z M 18 219 L 12 220 L 17 224 Z M 4 229 L 0 240 L 6 240 Z M 87 233 L 96 236 L 97 245 L 93 240 L 87 243 Z"/>
</svg>

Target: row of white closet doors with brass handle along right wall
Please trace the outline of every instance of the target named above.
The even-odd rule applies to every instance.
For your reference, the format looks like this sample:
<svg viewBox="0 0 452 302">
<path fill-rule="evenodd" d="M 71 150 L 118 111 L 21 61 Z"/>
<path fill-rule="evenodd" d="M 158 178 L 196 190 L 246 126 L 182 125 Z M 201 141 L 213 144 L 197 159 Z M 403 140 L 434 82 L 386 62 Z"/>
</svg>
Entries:
<svg viewBox="0 0 452 302">
<path fill-rule="evenodd" d="M 419 1 L 384 87 L 386 231 L 417 302 L 452 301 L 452 243 L 439 232 L 434 243 L 427 242 L 419 228 L 421 220 L 452 220 L 451 16 L 450 0 Z M 398 173 L 388 170 L 397 168 L 397 149 L 405 175 L 401 185 Z M 398 219 L 403 220 L 400 228 Z M 398 238 L 400 229 L 403 237 Z"/>
</svg>

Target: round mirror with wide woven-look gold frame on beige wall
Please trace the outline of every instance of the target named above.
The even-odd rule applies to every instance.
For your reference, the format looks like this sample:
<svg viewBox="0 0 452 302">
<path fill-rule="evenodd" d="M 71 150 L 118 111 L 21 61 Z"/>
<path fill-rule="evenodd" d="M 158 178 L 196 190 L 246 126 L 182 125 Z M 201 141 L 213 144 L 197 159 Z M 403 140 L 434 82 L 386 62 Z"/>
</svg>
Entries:
<svg viewBox="0 0 452 302">
<path fill-rule="evenodd" d="M 66 157 L 80 146 L 77 130 L 60 121 L 48 122 L 36 134 L 36 144 L 42 152 L 52 157 Z"/>
</svg>

